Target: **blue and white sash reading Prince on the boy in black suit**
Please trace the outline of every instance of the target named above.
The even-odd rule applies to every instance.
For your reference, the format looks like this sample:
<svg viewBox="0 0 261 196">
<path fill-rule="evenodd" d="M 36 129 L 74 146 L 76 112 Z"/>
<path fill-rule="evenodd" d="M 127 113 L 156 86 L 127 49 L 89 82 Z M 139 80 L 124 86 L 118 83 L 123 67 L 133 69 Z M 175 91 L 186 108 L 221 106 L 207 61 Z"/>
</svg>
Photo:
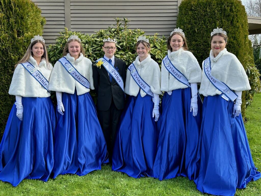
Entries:
<svg viewBox="0 0 261 196">
<path fill-rule="evenodd" d="M 124 92 L 124 84 L 123 84 L 123 79 L 120 75 L 120 73 L 115 69 L 114 66 L 112 66 L 109 61 L 106 59 L 99 58 L 96 62 L 102 61 L 103 67 L 107 70 L 107 72 L 114 78 L 114 80 L 117 82 L 117 84 L 120 86 L 121 90 Z"/>
</svg>

